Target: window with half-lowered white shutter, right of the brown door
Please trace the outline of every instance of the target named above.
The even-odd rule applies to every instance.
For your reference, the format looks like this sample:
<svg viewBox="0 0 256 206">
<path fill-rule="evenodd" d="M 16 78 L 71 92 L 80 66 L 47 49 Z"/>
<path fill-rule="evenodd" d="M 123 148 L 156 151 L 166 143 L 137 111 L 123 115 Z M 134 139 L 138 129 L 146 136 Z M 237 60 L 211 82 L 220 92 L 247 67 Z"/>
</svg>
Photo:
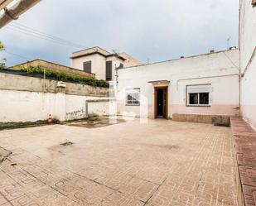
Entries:
<svg viewBox="0 0 256 206">
<path fill-rule="evenodd" d="M 186 86 L 186 106 L 209 107 L 210 84 Z"/>
</svg>

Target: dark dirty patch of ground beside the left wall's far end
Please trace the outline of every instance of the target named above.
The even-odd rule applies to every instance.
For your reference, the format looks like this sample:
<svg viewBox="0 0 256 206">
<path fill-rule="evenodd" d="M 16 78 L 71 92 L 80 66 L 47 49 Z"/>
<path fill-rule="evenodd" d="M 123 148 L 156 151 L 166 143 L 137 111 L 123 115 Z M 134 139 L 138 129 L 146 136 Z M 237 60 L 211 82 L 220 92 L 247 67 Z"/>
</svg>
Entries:
<svg viewBox="0 0 256 206">
<path fill-rule="evenodd" d="M 62 122 L 61 124 L 65 124 L 67 126 L 75 126 L 75 127 L 97 128 L 97 127 L 107 127 L 109 125 L 114 125 L 122 122 L 125 122 L 125 121 L 123 119 L 118 119 L 116 123 L 112 123 L 109 121 L 109 117 L 90 117 L 88 119 Z"/>
</svg>

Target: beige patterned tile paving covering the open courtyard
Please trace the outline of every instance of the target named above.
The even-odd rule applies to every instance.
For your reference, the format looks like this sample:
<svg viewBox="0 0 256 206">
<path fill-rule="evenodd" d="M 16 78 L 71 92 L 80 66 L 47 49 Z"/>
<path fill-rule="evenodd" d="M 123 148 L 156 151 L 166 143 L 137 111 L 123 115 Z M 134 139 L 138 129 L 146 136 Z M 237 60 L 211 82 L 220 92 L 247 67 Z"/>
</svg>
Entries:
<svg viewBox="0 0 256 206">
<path fill-rule="evenodd" d="M 236 206 L 232 141 L 166 120 L 2 131 L 0 205 Z"/>
</svg>

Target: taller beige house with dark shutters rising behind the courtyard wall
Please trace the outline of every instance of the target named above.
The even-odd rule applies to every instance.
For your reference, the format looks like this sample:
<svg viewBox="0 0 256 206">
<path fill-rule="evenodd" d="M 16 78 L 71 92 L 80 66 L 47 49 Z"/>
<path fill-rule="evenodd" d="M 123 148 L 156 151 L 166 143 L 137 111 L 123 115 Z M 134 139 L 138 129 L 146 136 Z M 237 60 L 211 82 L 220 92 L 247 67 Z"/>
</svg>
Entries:
<svg viewBox="0 0 256 206">
<path fill-rule="evenodd" d="M 74 68 L 94 73 L 96 79 L 108 81 L 115 79 L 117 68 L 142 65 L 142 62 L 126 53 L 110 53 L 99 46 L 75 51 L 70 58 Z"/>
</svg>

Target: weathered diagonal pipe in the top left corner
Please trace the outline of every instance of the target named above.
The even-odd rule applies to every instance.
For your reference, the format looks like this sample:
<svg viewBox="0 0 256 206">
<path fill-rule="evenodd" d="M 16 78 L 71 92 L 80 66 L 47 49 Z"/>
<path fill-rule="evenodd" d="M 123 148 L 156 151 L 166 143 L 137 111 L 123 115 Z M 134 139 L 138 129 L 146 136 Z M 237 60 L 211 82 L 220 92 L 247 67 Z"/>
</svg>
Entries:
<svg viewBox="0 0 256 206">
<path fill-rule="evenodd" d="M 4 12 L 0 17 L 0 28 L 6 26 L 7 23 L 17 20 L 22 13 L 36 5 L 41 0 L 19 0 L 11 8 L 4 7 Z"/>
</svg>

